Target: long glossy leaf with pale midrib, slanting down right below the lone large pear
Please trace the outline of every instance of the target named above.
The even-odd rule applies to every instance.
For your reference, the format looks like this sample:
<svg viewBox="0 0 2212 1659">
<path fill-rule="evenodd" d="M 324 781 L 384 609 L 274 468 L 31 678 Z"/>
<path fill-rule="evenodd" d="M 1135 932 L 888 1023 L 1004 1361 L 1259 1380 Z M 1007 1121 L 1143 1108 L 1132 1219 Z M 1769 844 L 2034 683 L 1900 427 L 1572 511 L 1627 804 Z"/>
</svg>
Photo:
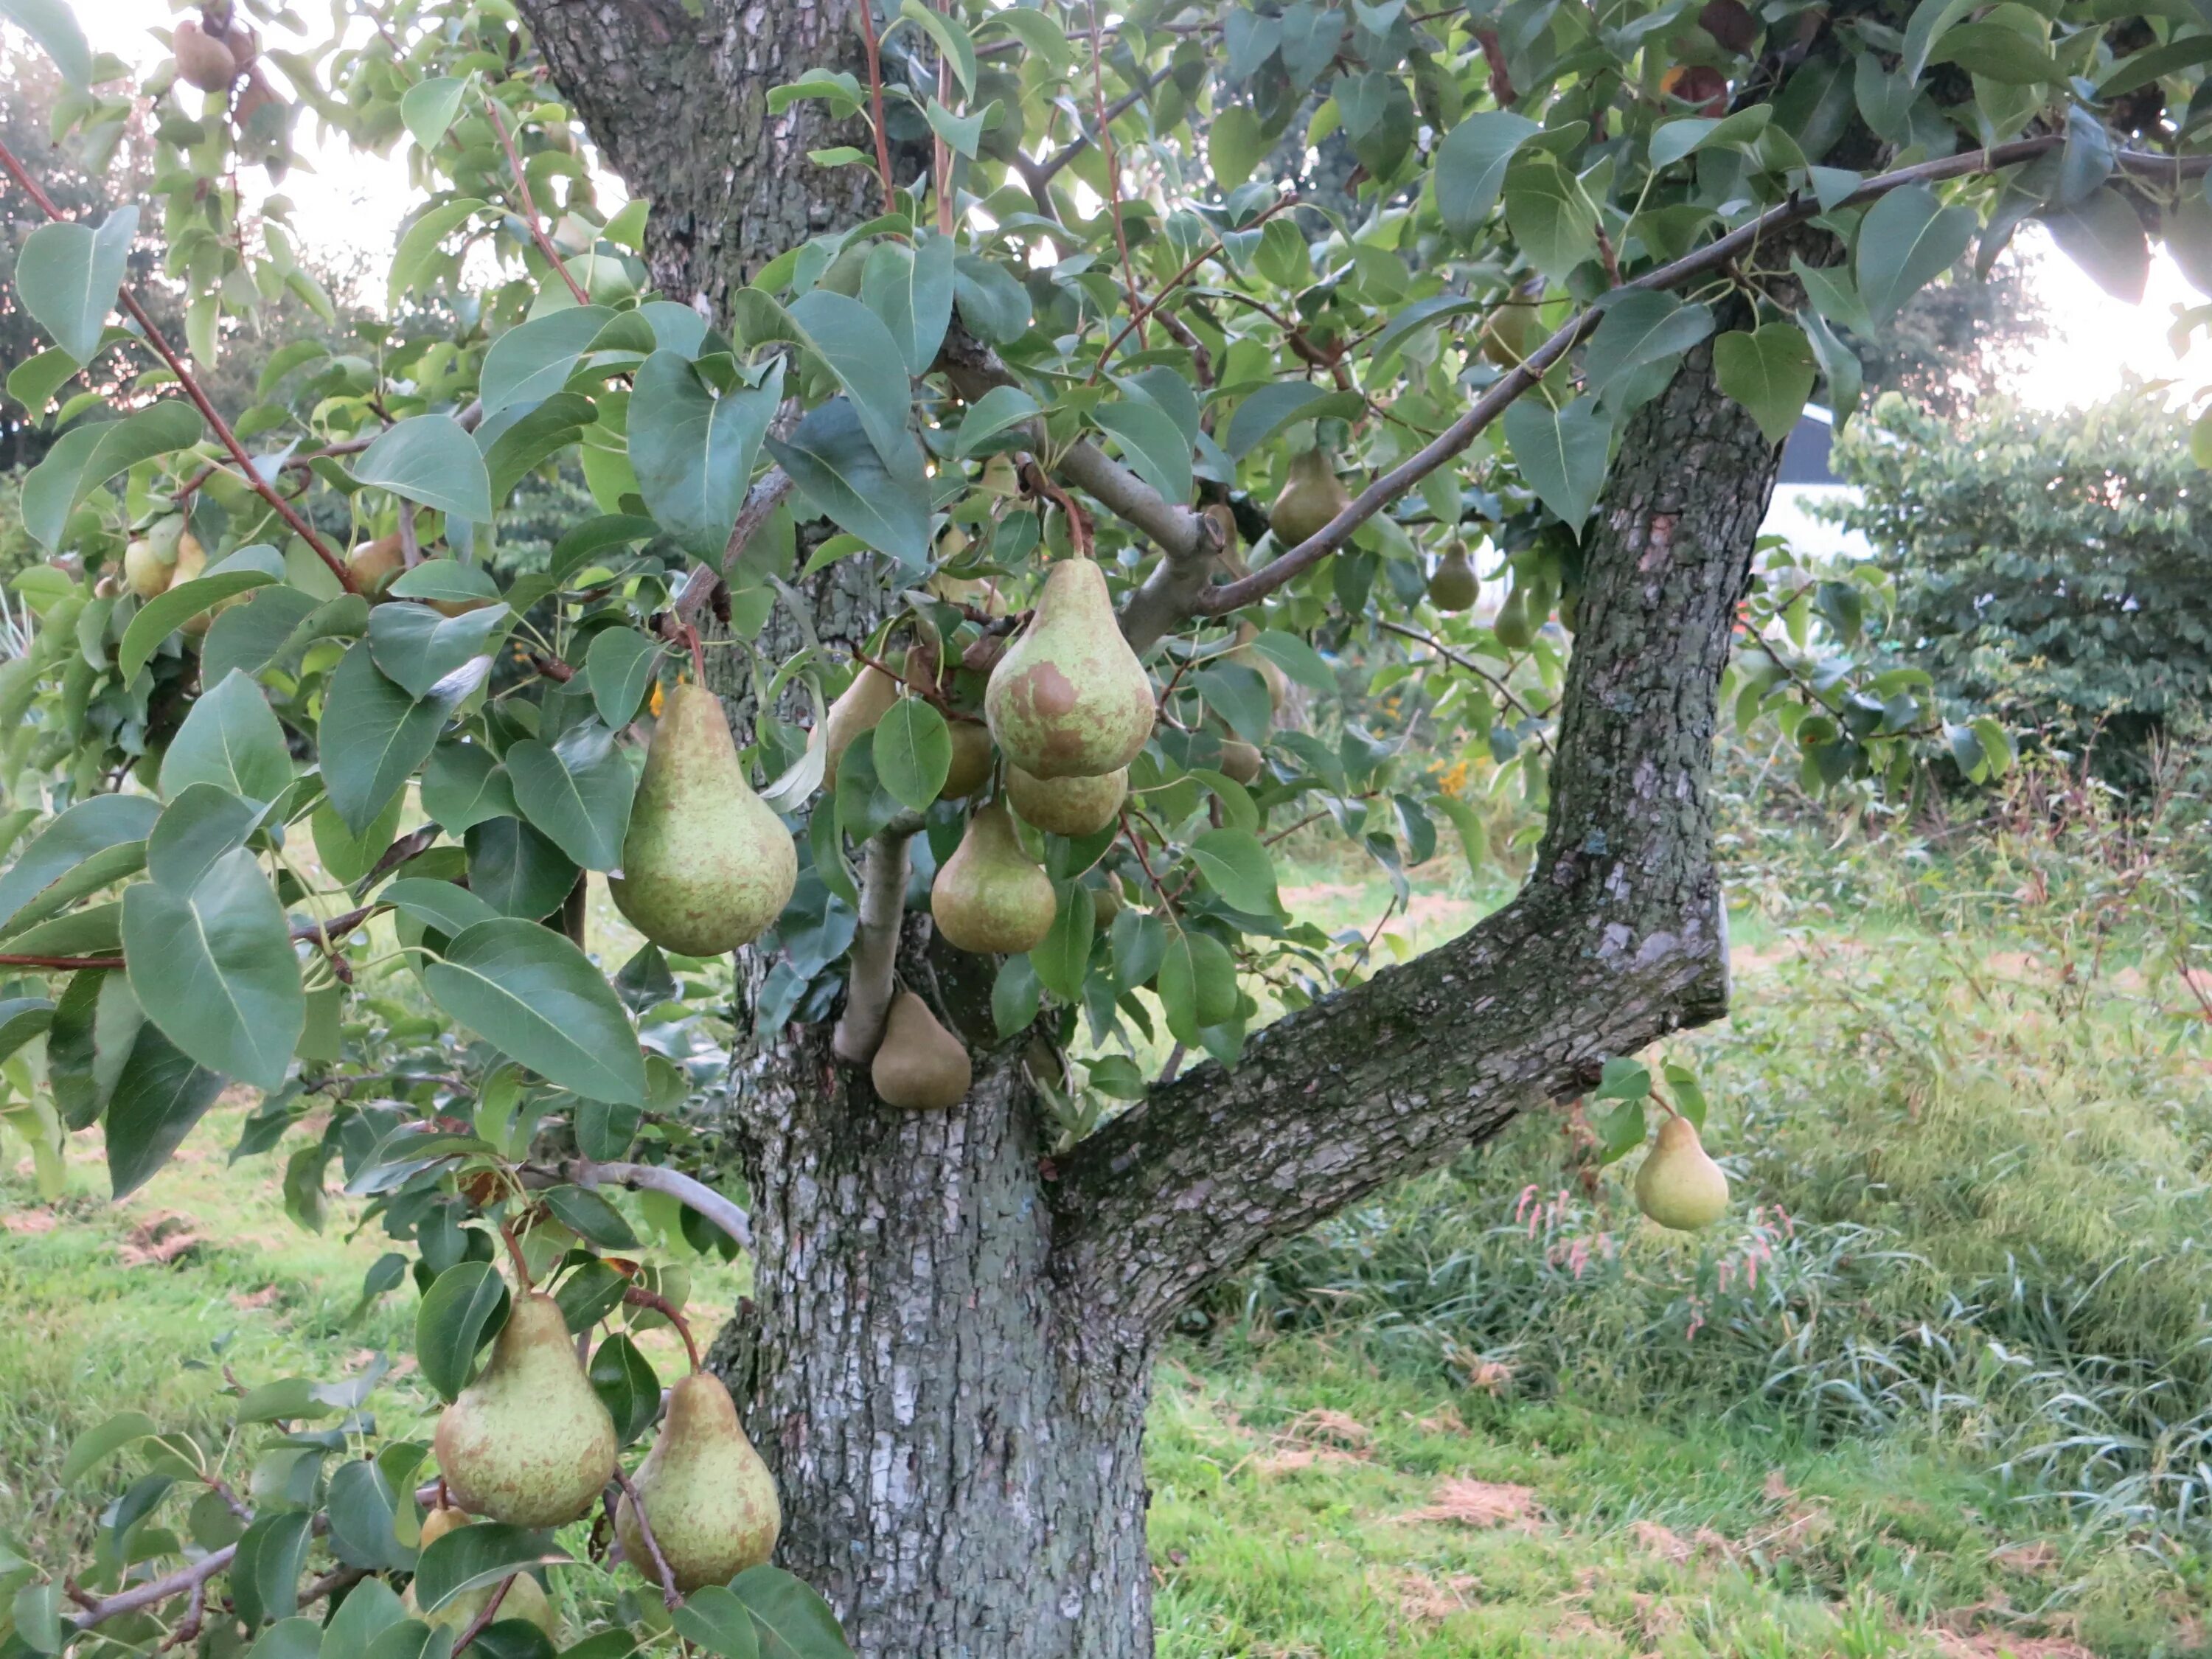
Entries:
<svg viewBox="0 0 2212 1659">
<path fill-rule="evenodd" d="M 646 1062 L 622 1002 L 571 940 L 538 922 L 478 922 L 422 969 L 431 1000 L 493 1048 L 586 1099 L 641 1106 Z"/>
</svg>

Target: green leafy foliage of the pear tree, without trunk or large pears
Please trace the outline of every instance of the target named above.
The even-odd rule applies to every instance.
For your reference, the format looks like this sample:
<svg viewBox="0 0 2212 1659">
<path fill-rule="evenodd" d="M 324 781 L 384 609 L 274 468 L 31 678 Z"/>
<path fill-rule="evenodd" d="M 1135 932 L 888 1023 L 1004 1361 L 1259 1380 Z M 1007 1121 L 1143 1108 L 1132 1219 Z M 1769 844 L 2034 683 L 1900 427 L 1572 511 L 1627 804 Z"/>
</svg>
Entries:
<svg viewBox="0 0 2212 1659">
<path fill-rule="evenodd" d="M 49 1181 L 64 1135 L 100 1124 L 126 1192 L 228 1079 L 252 1084 L 241 1150 L 290 1148 L 310 1225 L 336 1166 L 414 1252 L 447 1383 L 498 1323 L 471 1290 L 495 1228 L 524 1228 L 577 1329 L 622 1305 L 602 1250 L 630 1228 L 573 1179 L 562 1201 L 524 1186 L 538 1128 L 666 1170 L 688 1066 L 717 1062 L 679 1018 L 717 995 L 710 967 L 646 949 L 606 973 L 538 927 L 619 858 L 633 721 L 686 655 L 750 692 L 748 765 L 805 854 L 763 940 L 765 1031 L 834 1009 L 860 841 L 914 812 L 916 860 L 949 854 L 967 807 L 936 799 L 945 734 L 1042 566 L 1088 549 L 1133 595 L 1161 710 L 1135 810 L 1033 845 L 1060 922 L 993 998 L 1002 1033 L 1082 1040 L 1077 1133 L 1146 1088 L 1146 1040 L 1234 1062 L 1259 987 L 1298 1006 L 1369 969 L 1371 936 L 1285 907 L 1287 830 L 1334 825 L 1402 900 L 1440 825 L 1486 856 L 1484 792 L 1542 803 L 1586 520 L 1686 354 L 1781 440 L 1823 383 L 1847 416 L 1854 343 L 2028 217 L 2124 299 L 2152 237 L 2212 272 L 2212 33 L 2188 7 L 902 4 L 865 77 L 825 64 L 770 97 L 845 122 L 814 161 L 880 168 L 880 217 L 781 250 L 714 319 L 648 288 L 650 204 L 599 210 L 504 0 L 356 7 L 374 27 L 330 35 L 210 7 L 197 27 L 237 73 L 204 86 L 175 64 L 131 84 L 55 0 L 0 11 L 71 82 L 71 142 L 97 153 L 139 108 L 155 135 L 148 199 L 55 212 L 11 283 L 49 345 L 9 394 L 64 431 L 24 482 L 49 562 L 13 584 L 29 622 L 0 664 L 4 1121 Z M 303 122 L 407 155 L 392 319 L 347 349 L 283 343 L 223 420 L 197 367 L 228 325 L 285 294 L 334 316 L 279 188 Z M 1338 142 L 1356 173 L 1329 204 L 1261 170 Z M 894 146 L 925 159 L 896 173 Z M 177 341 L 122 288 L 155 226 Z M 1267 502 L 1316 449 L 1358 500 L 1285 546 Z M 595 513 L 502 582 L 509 509 L 544 469 L 582 473 Z M 1431 602 L 1460 544 L 1495 604 Z M 898 593 L 856 648 L 821 644 L 792 584 L 841 560 Z M 670 650 L 717 599 L 728 637 Z M 1739 717 L 1781 719 L 1814 781 L 1929 743 L 2000 768 L 1993 721 L 1944 728 L 1924 672 L 1858 659 L 1885 604 L 1878 573 L 1770 557 Z M 909 644 L 900 717 L 823 792 L 796 717 Z M 1371 719 L 1345 717 L 1347 686 Z M 1644 1126 L 1621 1077 L 1615 1152 Z M 327 1128 L 294 1133 L 310 1115 Z M 403 1283 L 409 1259 L 387 1263 L 365 1294 Z M 593 1376 L 617 1420 L 650 1416 L 619 1332 Z M 301 1387 L 241 1418 L 334 1405 Z M 111 1425 L 77 1464 L 133 1444 L 159 1478 L 206 1478 L 150 1431 Z M 232 1601 L 276 1621 L 272 1646 L 325 1546 L 409 1564 L 416 1462 L 319 1464 L 237 1540 Z M 166 1489 L 142 1491 L 80 1573 L 95 1595 L 133 1535 L 148 1559 L 184 1546 L 131 1531 Z M 192 1515 L 215 1548 L 228 1511 Z M 111 1617 L 9 1571 L 15 1646 Z M 761 1619 L 796 1586 L 754 1593 Z M 750 1624 L 695 1624 L 741 1659 Z"/>
</svg>

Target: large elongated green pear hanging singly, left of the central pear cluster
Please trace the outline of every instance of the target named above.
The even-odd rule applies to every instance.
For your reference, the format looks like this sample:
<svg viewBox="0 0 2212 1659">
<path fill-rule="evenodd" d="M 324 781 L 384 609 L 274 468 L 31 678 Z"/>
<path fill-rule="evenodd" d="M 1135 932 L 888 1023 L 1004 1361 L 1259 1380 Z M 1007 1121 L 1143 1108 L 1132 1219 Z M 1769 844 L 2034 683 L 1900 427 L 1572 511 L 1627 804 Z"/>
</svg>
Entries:
<svg viewBox="0 0 2212 1659">
<path fill-rule="evenodd" d="M 796 880 L 792 832 L 745 781 L 714 692 L 677 686 L 606 883 L 615 907 L 664 949 L 721 956 L 765 933 Z"/>
</svg>

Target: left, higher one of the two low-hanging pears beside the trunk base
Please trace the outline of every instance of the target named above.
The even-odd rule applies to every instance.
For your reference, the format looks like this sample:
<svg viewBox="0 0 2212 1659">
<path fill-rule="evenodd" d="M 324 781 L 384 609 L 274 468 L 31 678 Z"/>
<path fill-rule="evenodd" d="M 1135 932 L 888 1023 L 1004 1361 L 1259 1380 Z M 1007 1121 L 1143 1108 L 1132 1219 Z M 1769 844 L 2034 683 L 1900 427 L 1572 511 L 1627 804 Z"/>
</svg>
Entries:
<svg viewBox="0 0 2212 1659">
<path fill-rule="evenodd" d="M 453 1500 L 513 1526 L 573 1522 L 615 1478 L 615 1422 L 551 1296 L 518 1296 L 482 1374 L 438 1418 Z"/>
</svg>

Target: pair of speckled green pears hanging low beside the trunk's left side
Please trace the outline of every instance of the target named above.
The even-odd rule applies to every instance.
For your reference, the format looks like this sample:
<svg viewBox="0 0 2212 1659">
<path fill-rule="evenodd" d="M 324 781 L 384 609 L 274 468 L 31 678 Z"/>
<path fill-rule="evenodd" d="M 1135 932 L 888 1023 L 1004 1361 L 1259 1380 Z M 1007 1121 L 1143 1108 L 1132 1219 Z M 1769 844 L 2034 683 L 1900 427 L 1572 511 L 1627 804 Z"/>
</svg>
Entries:
<svg viewBox="0 0 2212 1659">
<path fill-rule="evenodd" d="M 491 1520 L 560 1526 L 599 1500 L 615 1478 L 615 1422 L 577 1365 L 560 1303 L 515 1298 L 482 1374 L 438 1418 L 436 1449 L 453 1502 Z M 684 1593 L 759 1566 L 776 1546 L 776 1482 L 739 1427 L 730 1391 L 708 1371 L 668 1391 L 659 1438 L 630 1484 Z M 438 1513 L 422 1522 L 425 1548 Z M 460 1520 L 445 1520 L 438 1533 Z M 650 1575 L 653 1553 L 628 1495 L 615 1509 L 615 1531 L 633 1566 Z M 500 1606 L 538 1624 L 522 1584 Z M 511 1606 L 515 1593 L 520 1606 Z"/>
</svg>

